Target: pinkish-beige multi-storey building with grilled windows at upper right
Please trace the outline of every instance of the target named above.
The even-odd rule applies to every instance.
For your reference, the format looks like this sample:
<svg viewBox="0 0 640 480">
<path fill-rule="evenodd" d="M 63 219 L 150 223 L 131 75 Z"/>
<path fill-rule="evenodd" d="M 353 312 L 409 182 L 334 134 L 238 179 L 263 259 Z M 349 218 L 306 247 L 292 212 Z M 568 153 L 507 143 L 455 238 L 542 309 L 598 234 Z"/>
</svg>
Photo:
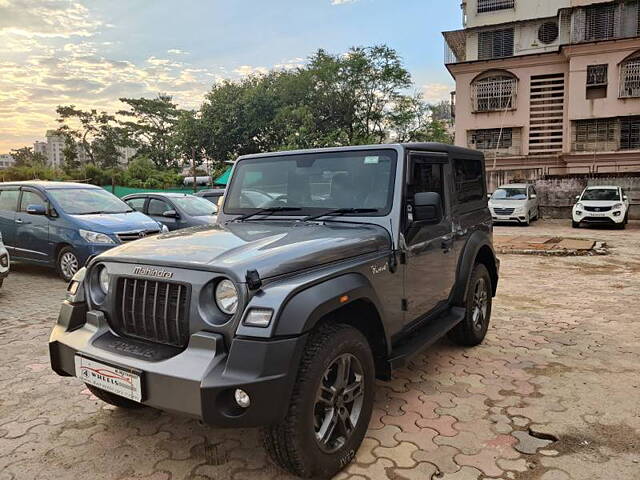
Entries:
<svg viewBox="0 0 640 480">
<path fill-rule="evenodd" d="M 444 32 L 457 145 L 483 150 L 503 178 L 640 172 L 638 0 L 462 10 L 464 29 Z"/>
</svg>

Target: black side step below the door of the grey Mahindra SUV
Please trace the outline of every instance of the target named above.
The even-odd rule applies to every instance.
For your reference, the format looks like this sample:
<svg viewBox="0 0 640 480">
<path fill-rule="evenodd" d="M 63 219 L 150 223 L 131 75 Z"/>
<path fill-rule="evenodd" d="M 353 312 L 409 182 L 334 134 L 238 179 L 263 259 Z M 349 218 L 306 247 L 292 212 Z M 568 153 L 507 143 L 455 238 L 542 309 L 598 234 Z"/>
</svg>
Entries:
<svg viewBox="0 0 640 480">
<path fill-rule="evenodd" d="M 391 369 L 403 367 L 411 357 L 444 337 L 453 327 L 464 320 L 465 313 L 466 310 L 462 307 L 452 307 L 441 316 L 428 320 L 424 326 L 411 332 L 408 338 L 391 352 L 389 358 Z"/>
</svg>

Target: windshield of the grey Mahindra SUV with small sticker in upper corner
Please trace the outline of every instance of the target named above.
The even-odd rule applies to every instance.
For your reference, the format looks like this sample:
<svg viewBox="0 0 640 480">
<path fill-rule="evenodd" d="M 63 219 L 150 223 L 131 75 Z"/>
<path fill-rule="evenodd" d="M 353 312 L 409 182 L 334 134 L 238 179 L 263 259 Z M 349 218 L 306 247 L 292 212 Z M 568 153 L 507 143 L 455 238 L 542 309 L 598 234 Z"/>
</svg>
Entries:
<svg viewBox="0 0 640 480">
<path fill-rule="evenodd" d="M 278 215 L 312 215 L 341 208 L 373 210 L 366 216 L 386 215 L 393 201 L 396 161 L 395 150 L 242 160 L 227 191 L 225 213 L 246 215 L 288 207 L 296 210 Z"/>
</svg>

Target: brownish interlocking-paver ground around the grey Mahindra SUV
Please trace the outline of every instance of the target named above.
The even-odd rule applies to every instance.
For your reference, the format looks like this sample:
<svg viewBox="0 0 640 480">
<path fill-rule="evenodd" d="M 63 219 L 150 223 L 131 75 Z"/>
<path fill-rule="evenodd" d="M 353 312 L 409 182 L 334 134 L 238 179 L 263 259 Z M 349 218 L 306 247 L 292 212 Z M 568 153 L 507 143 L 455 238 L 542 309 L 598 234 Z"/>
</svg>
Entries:
<svg viewBox="0 0 640 480">
<path fill-rule="evenodd" d="M 640 478 L 640 225 L 496 233 L 515 230 L 606 240 L 611 255 L 503 256 L 486 343 L 442 342 L 381 383 L 365 443 L 339 478 Z M 63 291 L 30 267 L 0 291 L 0 480 L 289 478 L 254 430 L 118 411 L 55 376 L 47 338 Z"/>
</svg>

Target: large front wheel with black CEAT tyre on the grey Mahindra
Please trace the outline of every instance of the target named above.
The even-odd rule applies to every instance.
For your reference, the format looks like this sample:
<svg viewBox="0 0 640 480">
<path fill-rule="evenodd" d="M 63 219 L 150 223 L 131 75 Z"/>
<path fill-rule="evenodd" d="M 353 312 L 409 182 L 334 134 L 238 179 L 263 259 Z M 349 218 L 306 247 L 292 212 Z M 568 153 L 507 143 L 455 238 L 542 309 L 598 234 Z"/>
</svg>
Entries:
<svg viewBox="0 0 640 480">
<path fill-rule="evenodd" d="M 289 410 L 263 430 L 267 452 L 303 478 L 331 478 L 355 457 L 371 419 L 375 369 L 367 339 L 340 324 L 307 341 Z"/>
</svg>

